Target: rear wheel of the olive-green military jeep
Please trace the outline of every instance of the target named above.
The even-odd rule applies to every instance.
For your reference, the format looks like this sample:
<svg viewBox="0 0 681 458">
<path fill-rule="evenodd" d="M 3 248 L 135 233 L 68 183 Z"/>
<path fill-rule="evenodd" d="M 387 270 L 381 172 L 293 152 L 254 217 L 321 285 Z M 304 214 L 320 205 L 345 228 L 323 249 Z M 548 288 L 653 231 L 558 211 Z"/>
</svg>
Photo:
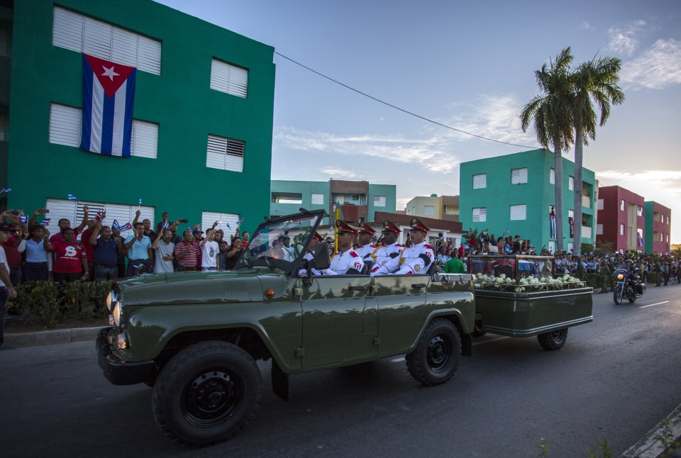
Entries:
<svg viewBox="0 0 681 458">
<path fill-rule="evenodd" d="M 456 372 L 461 356 L 461 338 L 456 326 L 436 318 L 421 335 L 413 352 L 406 355 L 406 367 L 414 379 L 427 386 L 442 384 Z"/>
</svg>

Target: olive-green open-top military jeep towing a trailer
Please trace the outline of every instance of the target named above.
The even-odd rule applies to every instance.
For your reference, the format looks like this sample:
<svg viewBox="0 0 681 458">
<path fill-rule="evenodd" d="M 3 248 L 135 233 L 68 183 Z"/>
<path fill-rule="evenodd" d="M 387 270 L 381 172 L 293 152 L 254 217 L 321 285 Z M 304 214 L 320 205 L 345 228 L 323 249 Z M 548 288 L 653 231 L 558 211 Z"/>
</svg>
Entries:
<svg viewBox="0 0 681 458">
<path fill-rule="evenodd" d="M 153 386 L 165 434 L 189 447 L 228 439 L 260 401 L 257 359 L 287 400 L 290 374 L 406 354 L 422 384 L 441 384 L 470 356 L 475 301 L 469 274 L 312 277 L 308 260 L 324 211 L 267 220 L 236 269 L 121 281 L 107 298 L 113 326 L 97 338 L 113 384 Z M 310 258 L 309 256 L 307 258 Z"/>
</svg>

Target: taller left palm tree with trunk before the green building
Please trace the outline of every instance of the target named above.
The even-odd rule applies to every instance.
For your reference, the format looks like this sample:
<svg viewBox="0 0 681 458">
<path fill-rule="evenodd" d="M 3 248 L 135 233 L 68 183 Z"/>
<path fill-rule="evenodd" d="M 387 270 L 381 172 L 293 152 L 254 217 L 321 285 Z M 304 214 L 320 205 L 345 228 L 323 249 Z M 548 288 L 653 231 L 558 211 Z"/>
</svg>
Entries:
<svg viewBox="0 0 681 458">
<path fill-rule="evenodd" d="M 553 149 L 555 170 L 555 235 L 558 251 L 563 250 L 563 150 L 567 151 L 573 140 L 572 119 L 570 118 L 570 47 L 565 48 L 541 66 L 534 75 L 541 94 L 534 98 L 520 113 L 523 132 L 530 122 L 534 124 L 537 141 L 543 147 Z"/>
</svg>

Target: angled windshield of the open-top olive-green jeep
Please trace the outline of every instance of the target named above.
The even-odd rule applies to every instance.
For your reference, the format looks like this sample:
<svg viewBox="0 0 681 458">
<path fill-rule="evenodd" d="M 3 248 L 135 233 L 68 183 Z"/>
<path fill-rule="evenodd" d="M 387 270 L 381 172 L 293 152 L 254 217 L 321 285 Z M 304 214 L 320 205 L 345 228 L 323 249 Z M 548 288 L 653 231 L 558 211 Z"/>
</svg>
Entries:
<svg viewBox="0 0 681 458">
<path fill-rule="evenodd" d="M 311 234 L 323 216 L 323 211 L 313 211 L 261 224 L 250 238 L 236 269 L 267 266 L 290 271 L 299 257 L 305 254 Z"/>
</svg>

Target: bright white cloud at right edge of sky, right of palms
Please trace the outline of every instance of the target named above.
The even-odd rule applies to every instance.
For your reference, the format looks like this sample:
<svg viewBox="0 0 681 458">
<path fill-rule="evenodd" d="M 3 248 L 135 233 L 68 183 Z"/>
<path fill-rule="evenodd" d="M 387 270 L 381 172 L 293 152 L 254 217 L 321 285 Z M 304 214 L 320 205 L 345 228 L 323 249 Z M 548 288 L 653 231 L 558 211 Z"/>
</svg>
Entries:
<svg viewBox="0 0 681 458">
<path fill-rule="evenodd" d="M 664 89 L 681 83 L 681 41 L 657 40 L 650 49 L 625 62 L 621 74 L 631 89 Z"/>
</svg>

